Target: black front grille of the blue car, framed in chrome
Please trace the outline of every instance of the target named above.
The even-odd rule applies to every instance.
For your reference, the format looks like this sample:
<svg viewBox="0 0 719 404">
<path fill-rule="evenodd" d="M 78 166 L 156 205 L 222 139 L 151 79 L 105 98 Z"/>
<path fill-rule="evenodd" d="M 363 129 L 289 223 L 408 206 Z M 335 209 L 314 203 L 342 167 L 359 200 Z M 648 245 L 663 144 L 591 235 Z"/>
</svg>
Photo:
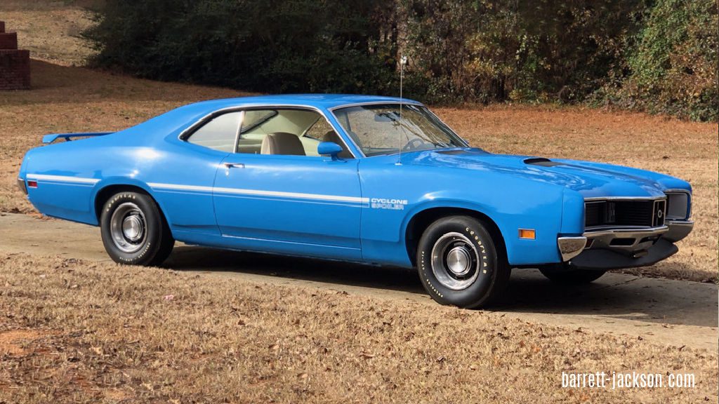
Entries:
<svg viewBox="0 0 719 404">
<path fill-rule="evenodd" d="M 667 201 L 590 201 L 585 203 L 585 228 L 664 225 Z"/>
</svg>

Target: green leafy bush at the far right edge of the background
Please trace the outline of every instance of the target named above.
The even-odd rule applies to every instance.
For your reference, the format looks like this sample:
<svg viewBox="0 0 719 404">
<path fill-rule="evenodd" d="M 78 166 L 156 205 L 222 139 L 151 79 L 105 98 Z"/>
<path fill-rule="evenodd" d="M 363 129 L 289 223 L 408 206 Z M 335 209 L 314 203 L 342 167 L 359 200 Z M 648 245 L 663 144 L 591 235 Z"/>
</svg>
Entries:
<svg viewBox="0 0 719 404">
<path fill-rule="evenodd" d="M 628 72 L 597 98 L 628 109 L 716 120 L 719 19 L 715 0 L 658 0 Z"/>
</svg>

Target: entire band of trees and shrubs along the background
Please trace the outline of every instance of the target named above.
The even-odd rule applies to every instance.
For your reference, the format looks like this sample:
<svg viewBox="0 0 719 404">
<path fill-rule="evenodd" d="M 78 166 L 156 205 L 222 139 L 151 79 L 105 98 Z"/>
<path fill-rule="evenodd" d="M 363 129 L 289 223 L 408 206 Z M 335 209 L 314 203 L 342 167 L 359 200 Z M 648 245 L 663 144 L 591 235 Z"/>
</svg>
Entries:
<svg viewBox="0 0 719 404">
<path fill-rule="evenodd" d="M 271 93 L 613 105 L 716 121 L 715 0 L 107 0 L 100 68 Z"/>
</svg>

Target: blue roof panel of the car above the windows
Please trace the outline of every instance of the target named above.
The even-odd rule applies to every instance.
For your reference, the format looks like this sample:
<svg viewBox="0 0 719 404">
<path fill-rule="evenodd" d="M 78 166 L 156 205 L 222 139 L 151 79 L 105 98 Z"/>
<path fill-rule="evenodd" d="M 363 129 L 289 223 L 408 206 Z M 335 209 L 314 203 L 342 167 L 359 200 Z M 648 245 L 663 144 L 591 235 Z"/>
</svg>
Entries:
<svg viewBox="0 0 719 404">
<path fill-rule="evenodd" d="M 247 96 L 238 98 L 224 98 L 211 101 L 201 101 L 194 105 L 206 107 L 207 109 L 224 109 L 237 106 L 313 106 L 320 109 L 332 109 L 338 106 L 349 104 L 365 103 L 398 103 L 400 101 L 419 104 L 417 101 L 408 98 L 386 97 L 386 96 L 365 96 L 355 94 L 285 94 L 269 96 Z"/>
</svg>

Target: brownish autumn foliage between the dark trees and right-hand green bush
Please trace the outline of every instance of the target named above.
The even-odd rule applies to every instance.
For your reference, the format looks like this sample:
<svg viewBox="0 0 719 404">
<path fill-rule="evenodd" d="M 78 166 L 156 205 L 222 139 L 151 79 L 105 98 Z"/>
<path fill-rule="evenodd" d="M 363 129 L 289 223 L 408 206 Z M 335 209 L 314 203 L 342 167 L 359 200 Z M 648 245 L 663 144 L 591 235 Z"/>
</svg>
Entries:
<svg viewBox="0 0 719 404">
<path fill-rule="evenodd" d="M 581 101 L 605 84 L 643 1 L 406 0 L 413 74 L 436 101 Z"/>
</svg>

